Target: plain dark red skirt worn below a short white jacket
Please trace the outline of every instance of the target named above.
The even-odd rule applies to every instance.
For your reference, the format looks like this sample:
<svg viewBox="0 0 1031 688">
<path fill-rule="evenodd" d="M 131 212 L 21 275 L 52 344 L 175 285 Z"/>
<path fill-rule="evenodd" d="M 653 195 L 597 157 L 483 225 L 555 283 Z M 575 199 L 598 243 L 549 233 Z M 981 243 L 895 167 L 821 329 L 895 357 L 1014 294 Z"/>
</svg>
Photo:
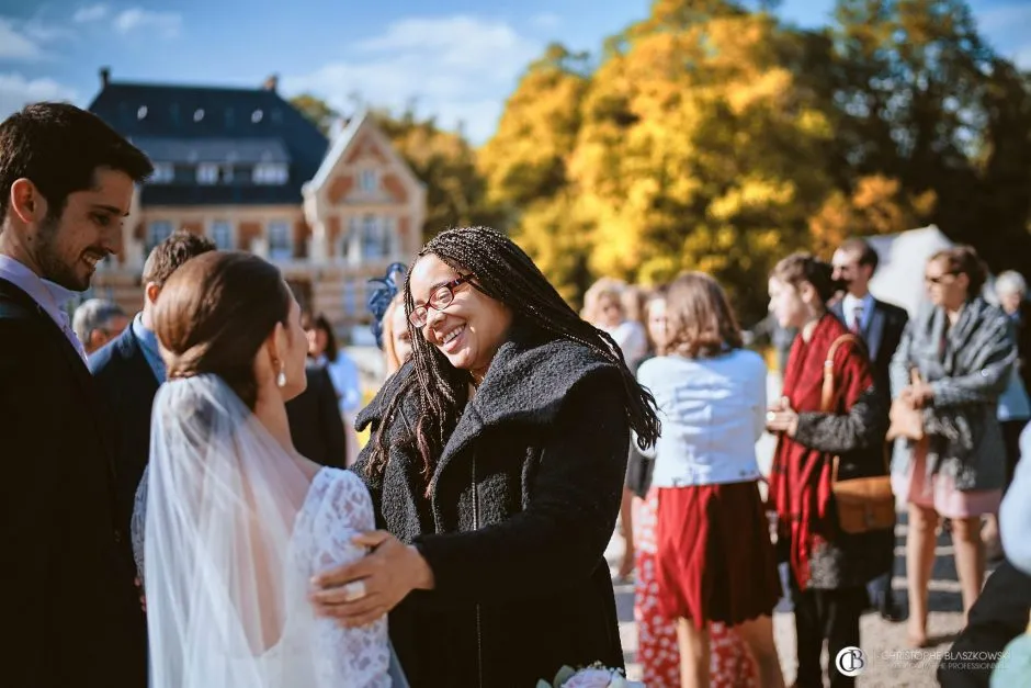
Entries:
<svg viewBox="0 0 1031 688">
<path fill-rule="evenodd" d="M 781 582 L 755 482 L 659 488 L 656 543 L 666 617 L 702 629 L 773 613 Z"/>
</svg>

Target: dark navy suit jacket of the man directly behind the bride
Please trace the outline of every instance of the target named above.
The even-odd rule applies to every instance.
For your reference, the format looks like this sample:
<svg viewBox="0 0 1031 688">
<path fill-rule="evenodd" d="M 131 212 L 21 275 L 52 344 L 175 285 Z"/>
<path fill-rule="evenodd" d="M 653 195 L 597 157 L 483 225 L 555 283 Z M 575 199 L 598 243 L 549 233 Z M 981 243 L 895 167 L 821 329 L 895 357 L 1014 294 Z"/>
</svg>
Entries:
<svg viewBox="0 0 1031 688">
<path fill-rule="evenodd" d="M 132 326 L 90 357 L 90 371 L 103 397 L 115 449 L 118 523 L 128 533 L 136 487 L 150 458 L 150 413 L 158 380 Z"/>
</svg>

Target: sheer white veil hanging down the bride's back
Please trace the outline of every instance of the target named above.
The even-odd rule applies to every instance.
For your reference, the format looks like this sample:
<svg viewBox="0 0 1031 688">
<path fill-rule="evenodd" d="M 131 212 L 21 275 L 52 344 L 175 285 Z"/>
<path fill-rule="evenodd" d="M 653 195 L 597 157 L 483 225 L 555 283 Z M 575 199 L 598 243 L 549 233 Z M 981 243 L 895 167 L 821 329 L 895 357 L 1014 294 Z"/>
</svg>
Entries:
<svg viewBox="0 0 1031 688">
<path fill-rule="evenodd" d="M 310 477 L 215 375 L 155 399 L 145 530 L 152 688 L 315 686 L 291 535 Z"/>
</svg>

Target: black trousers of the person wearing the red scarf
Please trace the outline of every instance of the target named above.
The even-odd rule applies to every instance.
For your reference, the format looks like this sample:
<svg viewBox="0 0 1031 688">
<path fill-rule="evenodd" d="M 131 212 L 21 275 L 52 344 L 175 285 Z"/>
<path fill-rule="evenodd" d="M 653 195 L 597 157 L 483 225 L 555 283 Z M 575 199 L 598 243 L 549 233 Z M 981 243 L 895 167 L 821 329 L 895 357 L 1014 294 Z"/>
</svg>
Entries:
<svg viewBox="0 0 1031 688">
<path fill-rule="evenodd" d="M 860 647 L 859 617 L 869 597 L 865 586 L 835 590 L 800 590 L 794 576 L 791 599 L 795 608 L 795 638 L 798 648 L 798 688 L 823 688 L 820 653 L 824 644 L 830 655 L 828 673 L 831 688 L 854 686 L 856 679 L 843 676 L 835 668 L 835 657 L 843 647 Z"/>
</svg>

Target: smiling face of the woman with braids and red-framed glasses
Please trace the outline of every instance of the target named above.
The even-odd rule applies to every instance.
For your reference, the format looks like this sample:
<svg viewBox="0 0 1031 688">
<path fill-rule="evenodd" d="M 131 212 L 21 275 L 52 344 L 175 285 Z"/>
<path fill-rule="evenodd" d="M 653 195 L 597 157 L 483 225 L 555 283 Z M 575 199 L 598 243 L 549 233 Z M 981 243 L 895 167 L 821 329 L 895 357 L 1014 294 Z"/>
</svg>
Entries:
<svg viewBox="0 0 1031 688">
<path fill-rule="evenodd" d="M 468 274 L 462 270 L 461 274 Z M 415 305 L 428 305 L 431 294 L 460 277 L 437 256 L 423 256 L 411 270 L 409 287 Z M 460 370 L 486 373 L 512 324 L 512 312 L 473 284 L 454 287 L 454 301 L 441 311 L 429 306 L 422 337 Z"/>
</svg>

